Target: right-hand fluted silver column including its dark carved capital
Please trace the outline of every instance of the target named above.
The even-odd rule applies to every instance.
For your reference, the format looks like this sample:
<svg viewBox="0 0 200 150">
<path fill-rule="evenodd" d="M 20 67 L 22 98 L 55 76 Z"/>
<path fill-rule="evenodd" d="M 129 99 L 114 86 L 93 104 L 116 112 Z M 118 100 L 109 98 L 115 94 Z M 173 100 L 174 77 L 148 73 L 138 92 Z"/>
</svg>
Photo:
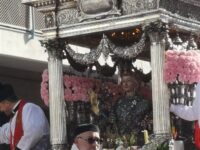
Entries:
<svg viewBox="0 0 200 150">
<path fill-rule="evenodd" d="M 151 41 L 154 134 L 168 136 L 170 134 L 169 92 L 163 76 L 166 28 L 158 22 L 150 25 L 148 33 Z"/>
</svg>

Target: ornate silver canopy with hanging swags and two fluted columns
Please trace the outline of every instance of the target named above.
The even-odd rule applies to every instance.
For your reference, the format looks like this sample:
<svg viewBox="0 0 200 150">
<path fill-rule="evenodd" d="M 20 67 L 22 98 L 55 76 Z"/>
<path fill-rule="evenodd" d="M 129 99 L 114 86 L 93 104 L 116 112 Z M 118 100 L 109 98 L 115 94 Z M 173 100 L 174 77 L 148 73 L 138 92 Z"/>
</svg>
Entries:
<svg viewBox="0 0 200 150">
<path fill-rule="evenodd" d="M 169 92 L 163 79 L 164 52 L 177 44 L 171 40 L 177 36 L 191 41 L 192 34 L 192 38 L 197 39 L 200 31 L 198 0 L 22 2 L 37 8 L 43 13 L 45 20 L 45 29 L 42 30 L 44 39 L 41 43 L 46 47 L 49 56 L 49 109 L 53 150 L 64 150 L 67 144 L 62 60 L 67 58 L 72 66 L 80 70 L 91 65 L 98 66 L 100 70 L 103 67 L 112 70 L 112 67 L 98 64 L 101 53 L 106 57 L 112 54 L 128 60 L 134 60 L 141 53 L 150 53 L 148 59 L 152 67 L 154 142 L 159 143 L 170 137 L 169 94 L 166 94 Z M 116 33 L 127 34 L 136 28 L 139 28 L 141 36 L 128 45 L 118 45 L 112 40 L 117 38 Z M 89 45 L 91 50 L 86 54 L 78 54 L 69 44 Z M 188 47 L 194 48 L 191 45 L 192 42 L 188 42 Z"/>
</svg>

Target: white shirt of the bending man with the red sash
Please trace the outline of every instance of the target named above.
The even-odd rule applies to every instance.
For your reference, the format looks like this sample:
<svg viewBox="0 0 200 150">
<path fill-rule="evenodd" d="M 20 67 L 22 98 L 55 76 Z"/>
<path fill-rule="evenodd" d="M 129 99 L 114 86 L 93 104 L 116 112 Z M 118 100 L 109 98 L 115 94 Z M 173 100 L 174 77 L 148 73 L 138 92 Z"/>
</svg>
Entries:
<svg viewBox="0 0 200 150">
<path fill-rule="evenodd" d="M 17 113 L 10 122 L 0 127 L 0 143 L 10 143 L 10 133 L 14 135 Z M 30 150 L 44 135 L 49 134 L 49 123 L 43 110 L 33 103 L 26 103 L 23 107 L 22 126 L 24 135 L 17 144 L 21 150 Z"/>
</svg>

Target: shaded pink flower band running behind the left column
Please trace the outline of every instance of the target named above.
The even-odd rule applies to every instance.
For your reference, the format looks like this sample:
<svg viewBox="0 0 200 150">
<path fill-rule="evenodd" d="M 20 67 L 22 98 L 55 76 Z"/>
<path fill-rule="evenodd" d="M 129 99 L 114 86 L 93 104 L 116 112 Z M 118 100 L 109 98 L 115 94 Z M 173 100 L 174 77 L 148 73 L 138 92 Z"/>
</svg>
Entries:
<svg viewBox="0 0 200 150">
<path fill-rule="evenodd" d="M 49 91 L 48 91 L 48 70 L 44 70 L 41 82 L 41 98 L 45 105 L 49 105 Z M 74 75 L 64 74 L 64 99 L 66 101 L 84 101 L 88 102 L 91 91 L 99 94 L 101 88 L 108 88 L 112 95 L 119 95 L 121 87 L 112 82 L 102 82 L 101 80 L 87 77 L 79 77 Z M 106 85 L 106 86 L 105 86 Z"/>
</svg>

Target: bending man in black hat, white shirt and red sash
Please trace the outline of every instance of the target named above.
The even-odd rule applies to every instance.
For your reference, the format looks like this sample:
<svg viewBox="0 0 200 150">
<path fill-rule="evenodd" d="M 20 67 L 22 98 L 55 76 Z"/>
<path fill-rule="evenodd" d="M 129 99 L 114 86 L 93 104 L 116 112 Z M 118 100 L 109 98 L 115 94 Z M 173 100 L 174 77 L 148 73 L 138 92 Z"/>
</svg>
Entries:
<svg viewBox="0 0 200 150">
<path fill-rule="evenodd" d="M 0 127 L 0 143 L 10 150 L 48 150 L 49 123 L 39 106 L 19 100 L 11 85 L 0 83 L 0 111 L 11 117 Z"/>
</svg>

